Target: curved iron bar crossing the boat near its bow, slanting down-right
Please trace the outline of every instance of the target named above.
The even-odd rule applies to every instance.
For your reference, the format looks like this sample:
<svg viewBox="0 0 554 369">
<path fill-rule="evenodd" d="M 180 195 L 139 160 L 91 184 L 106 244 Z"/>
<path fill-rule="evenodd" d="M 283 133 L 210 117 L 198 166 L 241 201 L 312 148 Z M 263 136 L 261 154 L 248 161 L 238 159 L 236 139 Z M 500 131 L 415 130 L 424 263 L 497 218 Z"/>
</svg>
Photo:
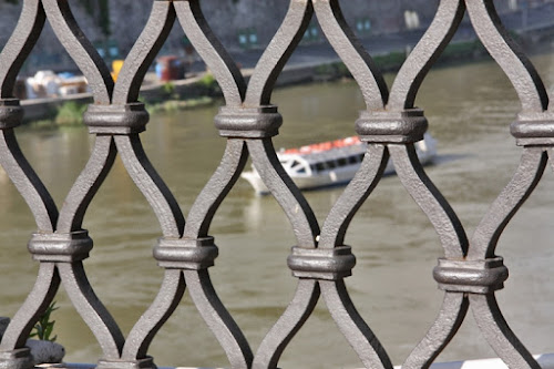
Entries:
<svg viewBox="0 0 554 369">
<path fill-rule="evenodd" d="M 316 237 L 319 235 L 316 216 L 306 198 L 280 165 L 271 140 L 248 141 L 247 145 L 256 171 L 293 225 L 298 242 L 297 246 L 316 247 Z"/>
</svg>

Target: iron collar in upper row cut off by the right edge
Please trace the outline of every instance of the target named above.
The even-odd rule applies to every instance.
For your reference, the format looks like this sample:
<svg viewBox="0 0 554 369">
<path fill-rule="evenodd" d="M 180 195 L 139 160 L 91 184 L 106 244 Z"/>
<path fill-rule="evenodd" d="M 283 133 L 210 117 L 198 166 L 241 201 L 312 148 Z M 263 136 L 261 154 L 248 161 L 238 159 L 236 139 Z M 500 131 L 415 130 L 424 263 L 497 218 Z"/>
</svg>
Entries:
<svg viewBox="0 0 554 369">
<path fill-rule="evenodd" d="M 510 126 L 519 146 L 554 145 L 554 113 L 524 113 Z"/>
</svg>

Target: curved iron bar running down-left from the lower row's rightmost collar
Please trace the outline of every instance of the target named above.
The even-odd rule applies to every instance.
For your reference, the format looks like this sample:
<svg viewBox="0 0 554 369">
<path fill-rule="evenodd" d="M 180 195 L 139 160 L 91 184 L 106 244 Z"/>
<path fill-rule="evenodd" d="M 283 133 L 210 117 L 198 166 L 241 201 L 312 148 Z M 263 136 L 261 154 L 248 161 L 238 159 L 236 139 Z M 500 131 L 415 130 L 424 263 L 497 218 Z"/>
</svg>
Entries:
<svg viewBox="0 0 554 369">
<path fill-rule="evenodd" d="M 402 369 L 428 369 L 458 332 L 469 306 L 469 299 L 464 294 L 445 293 L 439 316 L 425 337 L 402 363 Z"/>
</svg>

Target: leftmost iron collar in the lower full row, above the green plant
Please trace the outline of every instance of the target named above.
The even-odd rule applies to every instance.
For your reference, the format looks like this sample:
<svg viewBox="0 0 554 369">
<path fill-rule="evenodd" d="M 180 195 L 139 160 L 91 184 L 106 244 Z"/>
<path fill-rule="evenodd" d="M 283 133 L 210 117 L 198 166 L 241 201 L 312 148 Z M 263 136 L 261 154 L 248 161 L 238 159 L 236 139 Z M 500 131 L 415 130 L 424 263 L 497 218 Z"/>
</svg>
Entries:
<svg viewBox="0 0 554 369">
<path fill-rule="evenodd" d="M 33 259 L 52 263 L 72 263 L 89 257 L 93 242 L 85 229 L 72 233 L 33 234 L 28 248 Z"/>
</svg>

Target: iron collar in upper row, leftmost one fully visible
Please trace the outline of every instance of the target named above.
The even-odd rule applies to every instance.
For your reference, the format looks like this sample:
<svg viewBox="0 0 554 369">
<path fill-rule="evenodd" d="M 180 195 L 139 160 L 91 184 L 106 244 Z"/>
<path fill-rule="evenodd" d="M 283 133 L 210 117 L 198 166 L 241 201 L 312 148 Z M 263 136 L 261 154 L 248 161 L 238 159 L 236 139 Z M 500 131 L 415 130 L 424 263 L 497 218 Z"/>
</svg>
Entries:
<svg viewBox="0 0 554 369">
<path fill-rule="evenodd" d="M 90 133 L 126 135 L 146 130 L 150 115 L 143 103 L 125 105 L 89 105 L 84 124 Z"/>
</svg>

